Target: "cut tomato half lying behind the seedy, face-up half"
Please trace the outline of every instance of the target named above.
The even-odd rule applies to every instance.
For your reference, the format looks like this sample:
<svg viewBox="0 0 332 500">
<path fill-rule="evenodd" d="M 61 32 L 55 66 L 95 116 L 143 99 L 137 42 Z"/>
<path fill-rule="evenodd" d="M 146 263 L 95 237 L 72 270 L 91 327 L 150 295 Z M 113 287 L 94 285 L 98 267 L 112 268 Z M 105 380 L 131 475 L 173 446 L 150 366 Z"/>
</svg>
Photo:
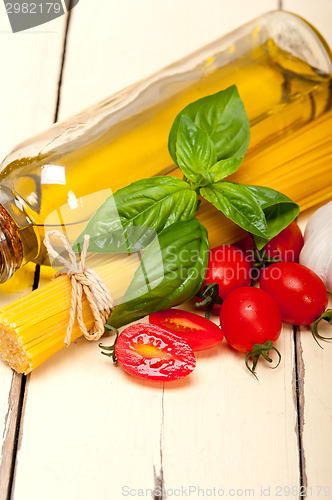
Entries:
<svg viewBox="0 0 332 500">
<path fill-rule="evenodd" d="M 150 323 L 160 326 L 185 340 L 193 351 L 202 351 L 219 344 L 224 336 L 212 321 L 181 309 L 152 313 Z"/>
</svg>

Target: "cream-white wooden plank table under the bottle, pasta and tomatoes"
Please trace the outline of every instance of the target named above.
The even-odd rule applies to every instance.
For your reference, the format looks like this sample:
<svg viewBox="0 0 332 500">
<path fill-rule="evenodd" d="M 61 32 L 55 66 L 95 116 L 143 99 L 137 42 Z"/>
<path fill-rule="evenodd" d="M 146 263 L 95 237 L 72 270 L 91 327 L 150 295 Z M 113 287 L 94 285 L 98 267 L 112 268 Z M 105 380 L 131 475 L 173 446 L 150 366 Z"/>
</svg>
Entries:
<svg viewBox="0 0 332 500">
<path fill-rule="evenodd" d="M 69 19 L 17 34 L 0 5 L 1 156 L 278 7 L 332 45 L 331 0 L 81 0 Z M 30 266 L 0 285 L 1 303 L 33 279 Z M 261 365 L 259 382 L 224 344 L 164 385 L 130 378 L 83 340 L 27 378 L 1 362 L 1 500 L 331 497 L 332 345 L 284 327 L 278 347 L 282 366 Z"/>
</svg>

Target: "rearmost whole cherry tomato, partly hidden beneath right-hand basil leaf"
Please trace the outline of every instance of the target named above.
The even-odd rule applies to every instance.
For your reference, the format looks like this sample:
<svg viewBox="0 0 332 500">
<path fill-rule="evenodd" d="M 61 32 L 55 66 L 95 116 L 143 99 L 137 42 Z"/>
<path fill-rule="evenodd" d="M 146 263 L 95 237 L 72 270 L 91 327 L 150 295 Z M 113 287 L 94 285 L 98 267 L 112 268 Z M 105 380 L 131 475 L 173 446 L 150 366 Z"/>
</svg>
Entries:
<svg viewBox="0 0 332 500">
<path fill-rule="evenodd" d="M 252 253 L 253 239 L 250 234 L 241 242 L 242 248 L 251 262 L 255 259 Z M 298 262 L 304 239 L 301 229 L 295 221 L 283 229 L 277 236 L 272 238 L 265 246 L 264 250 L 269 259 L 280 259 L 283 262 Z M 262 252 L 262 250 L 261 250 Z"/>
</svg>

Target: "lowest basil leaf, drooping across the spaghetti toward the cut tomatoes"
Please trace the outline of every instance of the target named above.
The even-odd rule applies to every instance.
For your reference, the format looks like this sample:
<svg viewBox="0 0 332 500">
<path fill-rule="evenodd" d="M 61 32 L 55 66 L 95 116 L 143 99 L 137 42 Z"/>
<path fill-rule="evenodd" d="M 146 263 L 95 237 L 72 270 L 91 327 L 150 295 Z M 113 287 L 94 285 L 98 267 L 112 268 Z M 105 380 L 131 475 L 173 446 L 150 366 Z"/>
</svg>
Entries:
<svg viewBox="0 0 332 500">
<path fill-rule="evenodd" d="M 119 328 L 193 297 L 203 284 L 208 256 L 207 231 L 197 219 L 168 226 L 144 252 L 107 324 Z"/>
</svg>

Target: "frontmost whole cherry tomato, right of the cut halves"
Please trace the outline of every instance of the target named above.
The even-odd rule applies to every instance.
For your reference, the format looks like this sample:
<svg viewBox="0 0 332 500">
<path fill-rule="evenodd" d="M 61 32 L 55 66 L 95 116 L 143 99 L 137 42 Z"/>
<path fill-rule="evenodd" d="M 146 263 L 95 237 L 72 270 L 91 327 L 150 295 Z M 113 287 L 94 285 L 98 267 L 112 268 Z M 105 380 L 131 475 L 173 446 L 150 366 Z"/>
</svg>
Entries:
<svg viewBox="0 0 332 500">
<path fill-rule="evenodd" d="M 249 353 L 254 344 L 277 340 L 282 323 L 271 295 L 260 288 L 241 287 L 224 300 L 220 308 L 220 326 L 234 349 Z"/>
</svg>

